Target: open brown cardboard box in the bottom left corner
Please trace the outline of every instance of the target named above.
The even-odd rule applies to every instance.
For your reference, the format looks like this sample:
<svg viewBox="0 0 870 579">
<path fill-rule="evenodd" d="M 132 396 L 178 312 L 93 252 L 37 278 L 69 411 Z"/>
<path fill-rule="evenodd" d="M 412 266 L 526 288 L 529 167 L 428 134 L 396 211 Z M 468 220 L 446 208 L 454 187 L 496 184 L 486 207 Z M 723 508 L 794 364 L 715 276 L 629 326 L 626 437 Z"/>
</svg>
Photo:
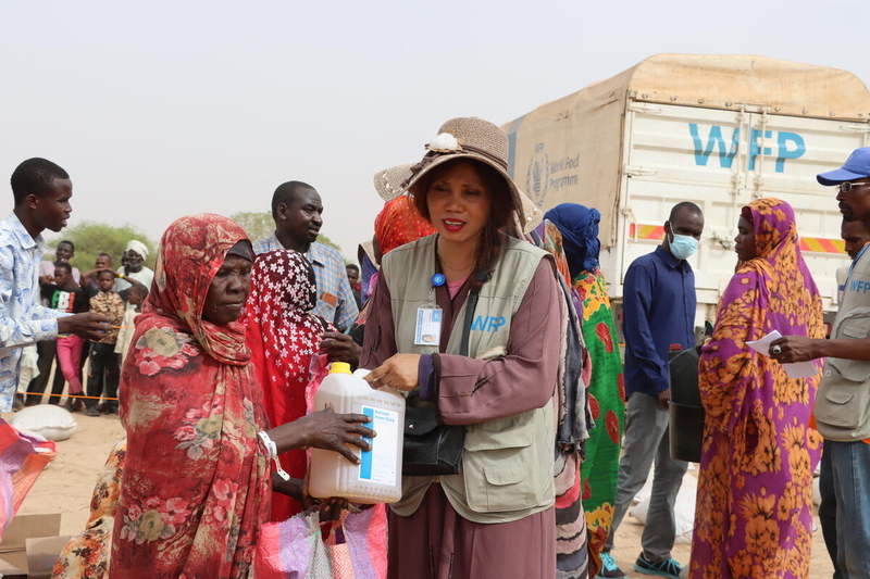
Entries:
<svg viewBox="0 0 870 579">
<path fill-rule="evenodd" d="M 70 541 L 69 537 L 58 536 L 60 530 L 60 513 L 13 518 L 0 543 L 0 576 L 3 579 L 51 577 L 54 561 Z"/>
</svg>

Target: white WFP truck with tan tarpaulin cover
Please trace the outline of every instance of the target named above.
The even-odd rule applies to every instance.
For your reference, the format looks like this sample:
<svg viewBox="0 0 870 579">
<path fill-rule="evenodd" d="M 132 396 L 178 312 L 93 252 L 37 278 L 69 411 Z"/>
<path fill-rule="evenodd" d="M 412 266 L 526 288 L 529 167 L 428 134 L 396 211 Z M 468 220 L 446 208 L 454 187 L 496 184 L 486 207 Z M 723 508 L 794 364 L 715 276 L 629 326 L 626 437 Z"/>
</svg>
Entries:
<svg viewBox="0 0 870 579">
<path fill-rule="evenodd" d="M 741 209 L 787 201 L 825 312 L 848 262 L 835 192 L 816 181 L 870 144 L 870 93 L 845 71 L 763 56 L 658 54 L 504 125 L 509 172 L 544 211 L 601 212 L 601 270 L 619 318 L 625 272 L 661 243 L 680 201 L 705 215 L 689 259 L 696 326 L 712 320 L 736 265 Z"/>
</svg>

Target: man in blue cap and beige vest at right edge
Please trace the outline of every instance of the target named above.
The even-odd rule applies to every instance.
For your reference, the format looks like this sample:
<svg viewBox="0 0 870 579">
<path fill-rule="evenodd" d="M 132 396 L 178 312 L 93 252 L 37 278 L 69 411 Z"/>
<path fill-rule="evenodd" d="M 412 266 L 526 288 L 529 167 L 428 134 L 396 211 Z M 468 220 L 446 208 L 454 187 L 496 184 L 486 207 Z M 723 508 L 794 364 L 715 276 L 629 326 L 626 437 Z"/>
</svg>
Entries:
<svg viewBox="0 0 870 579">
<path fill-rule="evenodd" d="M 870 147 L 856 149 L 842 168 L 822 173 L 837 188 L 840 211 L 870 228 Z M 836 498 L 836 567 L 840 577 L 870 578 L 870 246 L 853 262 L 830 340 L 800 336 L 770 345 L 783 364 L 826 357 L 816 398 L 816 424 L 824 437 Z M 828 462 L 828 461 L 825 461 Z"/>
</svg>

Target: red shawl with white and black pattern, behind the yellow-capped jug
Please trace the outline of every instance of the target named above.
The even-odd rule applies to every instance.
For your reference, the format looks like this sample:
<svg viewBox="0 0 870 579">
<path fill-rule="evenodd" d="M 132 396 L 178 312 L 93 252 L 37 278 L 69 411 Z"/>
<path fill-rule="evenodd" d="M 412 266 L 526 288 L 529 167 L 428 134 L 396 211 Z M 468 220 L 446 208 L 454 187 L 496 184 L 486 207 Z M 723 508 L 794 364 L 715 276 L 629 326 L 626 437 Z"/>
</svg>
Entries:
<svg viewBox="0 0 870 579">
<path fill-rule="evenodd" d="M 246 304 L 248 348 L 272 426 L 306 415 L 311 358 L 318 352 L 320 335 L 335 331 L 322 317 L 309 313 L 318 303 L 315 284 L 311 263 L 293 250 L 262 253 L 251 270 L 251 293 Z M 306 476 L 303 449 L 282 454 L 281 463 L 291 477 Z M 273 494 L 272 520 L 285 520 L 301 511 L 299 502 Z"/>
</svg>

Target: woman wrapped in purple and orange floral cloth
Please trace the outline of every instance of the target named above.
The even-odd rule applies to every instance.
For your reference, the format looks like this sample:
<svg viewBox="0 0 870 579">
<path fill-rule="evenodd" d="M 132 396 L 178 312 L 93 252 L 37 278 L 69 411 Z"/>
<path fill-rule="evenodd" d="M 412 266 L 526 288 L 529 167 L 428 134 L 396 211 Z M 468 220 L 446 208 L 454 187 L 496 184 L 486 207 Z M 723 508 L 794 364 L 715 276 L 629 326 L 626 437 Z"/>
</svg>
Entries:
<svg viewBox="0 0 870 579">
<path fill-rule="evenodd" d="M 707 416 L 691 577 L 806 578 L 821 453 L 821 437 L 807 424 L 821 366 L 810 378 L 790 378 L 747 342 L 773 330 L 823 338 L 821 299 L 791 205 L 754 201 L 737 228 L 737 272 L 701 350 Z"/>
</svg>

